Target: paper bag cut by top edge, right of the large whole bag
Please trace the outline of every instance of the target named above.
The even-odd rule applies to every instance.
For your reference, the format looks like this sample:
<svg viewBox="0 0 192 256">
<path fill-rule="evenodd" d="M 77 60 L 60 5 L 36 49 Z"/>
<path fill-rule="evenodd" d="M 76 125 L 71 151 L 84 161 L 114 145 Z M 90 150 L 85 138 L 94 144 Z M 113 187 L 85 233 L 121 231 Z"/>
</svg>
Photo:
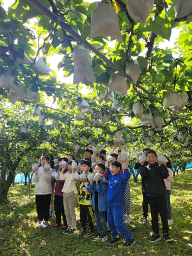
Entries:
<svg viewBox="0 0 192 256">
<path fill-rule="evenodd" d="M 154 7 L 154 0 L 128 0 L 127 10 L 135 22 L 145 23 Z"/>
</svg>

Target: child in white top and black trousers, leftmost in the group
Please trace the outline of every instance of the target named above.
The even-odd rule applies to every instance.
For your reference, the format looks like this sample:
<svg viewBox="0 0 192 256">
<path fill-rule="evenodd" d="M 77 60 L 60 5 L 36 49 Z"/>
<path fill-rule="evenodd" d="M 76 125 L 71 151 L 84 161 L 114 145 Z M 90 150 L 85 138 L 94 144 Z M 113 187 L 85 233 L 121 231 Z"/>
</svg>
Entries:
<svg viewBox="0 0 192 256">
<path fill-rule="evenodd" d="M 49 205 L 51 202 L 51 172 L 44 170 L 46 163 L 49 163 L 48 156 L 41 157 L 41 166 L 36 170 L 33 181 L 36 182 L 35 185 L 35 202 L 36 202 L 36 212 L 38 216 L 38 223 L 36 223 L 36 228 L 47 228 L 49 221 Z M 44 222 L 45 221 L 45 222 Z"/>
</svg>

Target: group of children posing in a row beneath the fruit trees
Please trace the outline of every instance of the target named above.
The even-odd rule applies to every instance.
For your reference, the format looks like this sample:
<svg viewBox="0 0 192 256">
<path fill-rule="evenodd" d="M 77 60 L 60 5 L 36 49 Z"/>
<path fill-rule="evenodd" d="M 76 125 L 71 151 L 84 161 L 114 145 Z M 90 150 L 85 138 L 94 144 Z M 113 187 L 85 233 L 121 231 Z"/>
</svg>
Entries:
<svg viewBox="0 0 192 256">
<path fill-rule="evenodd" d="M 136 241 L 124 225 L 125 191 L 131 176 L 127 168 L 128 161 L 126 158 L 121 159 L 120 157 L 118 159 L 118 154 L 114 156 L 113 152 L 111 153 L 112 160 L 108 159 L 108 161 L 103 156 L 106 152 L 103 152 L 104 154 L 100 152 L 99 156 L 93 154 L 90 149 L 85 152 L 84 159 L 77 161 L 81 165 L 80 170 L 78 170 L 77 164 L 77 167 L 74 167 L 74 156 L 72 154 L 68 155 L 68 157 L 61 156 L 58 159 L 59 168 L 57 172 L 56 168 L 52 166 L 50 155 L 41 157 L 40 167 L 34 172 L 36 211 L 39 220 L 36 227 L 45 228 L 49 225 L 51 180 L 53 180 L 56 182 L 54 193 L 56 224 L 54 227 L 61 227 L 63 233 L 67 235 L 77 233 L 75 211 L 77 191 L 81 222 L 79 236 L 92 237 L 92 241 L 107 241 L 108 223 L 112 237 L 108 241 L 109 245 L 119 243 L 119 234 L 122 234 L 125 238 L 124 246 L 132 246 Z M 121 151 L 118 153 L 122 154 Z M 66 166 L 63 165 L 63 161 L 68 164 Z M 96 161 L 96 163 L 93 161 Z M 147 189 L 145 189 L 145 192 L 148 196 L 152 214 L 154 234 L 149 241 L 155 242 L 161 239 L 159 236 L 158 212 L 163 223 L 164 240 L 166 242 L 172 241 L 168 234 L 166 188 L 164 185 L 164 179 L 168 177 L 168 169 L 164 163 L 157 163 L 157 154 L 154 150 L 149 150 L 146 153 L 146 161 L 148 165 L 141 163 L 140 173 L 142 179 L 146 180 Z M 49 164 L 49 168 L 45 164 Z M 52 175 L 53 172 L 56 175 Z M 156 183 L 159 186 L 158 188 Z M 127 215 L 129 216 L 129 214 Z M 89 230 L 86 230 L 87 221 Z M 97 226 L 96 233 L 94 230 L 95 221 Z"/>
</svg>

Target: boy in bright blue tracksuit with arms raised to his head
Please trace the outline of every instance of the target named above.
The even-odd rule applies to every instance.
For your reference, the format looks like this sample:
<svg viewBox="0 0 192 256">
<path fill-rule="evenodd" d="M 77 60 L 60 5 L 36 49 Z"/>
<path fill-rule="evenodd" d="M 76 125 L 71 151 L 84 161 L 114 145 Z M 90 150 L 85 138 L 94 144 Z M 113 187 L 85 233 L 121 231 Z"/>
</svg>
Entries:
<svg viewBox="0 0 192 256">
<path fill-rule="evenodd" d="M 124 174 L 120 173 L 120 169 L 124 168 Z M 108 186 L 108 225 L 111 230 L 112 239 L 109 245 L 120 242 L 118 232 L 125 237 L 125 247 L 135 244 L 134 237 L 129 229 L 123 223 L 124 214 L 124 193 L 127 180 L 130 178 L 130 172 L 126 163 L 118 161 L 108 162 L 107 175 L 109 179 Z"/>
</svg>

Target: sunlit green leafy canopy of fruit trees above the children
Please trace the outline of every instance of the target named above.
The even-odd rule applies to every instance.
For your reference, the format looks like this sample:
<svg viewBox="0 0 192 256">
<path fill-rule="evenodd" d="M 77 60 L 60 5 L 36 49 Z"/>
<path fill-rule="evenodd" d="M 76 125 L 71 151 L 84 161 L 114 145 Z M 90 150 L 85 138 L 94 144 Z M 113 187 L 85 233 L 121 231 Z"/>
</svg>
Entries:
<svg viewBox="0 0 192 256">
<path fill-rule="evenodd" d="M 123 137 L 129 155 L 148 146 L 169 155 L 188 156 L 192 25 L 188 17 L 176 17 L 174 1 L 155 0 L 143 23 L 132 19 L 127 1 L 109 2 L 116 10 L 122 42 L 106 35 L 90 38 L 92 10 L 97 2 L 15 0 L 8 10 L 4 2 L 0 0 L 0 75 L 13 84 L 4 86 L 0 80 L 1 148 L 6 154 L 10 152 L 8 147 L 26 148 L 27 152 L 42 148 L 46 141 L 59 152 L 70 152 L 77 143 L 82 147 L 108 147 L 113 138 Z M 174 46 L 162 46 L 160 43 L 168 42 L 175 29 L 179 37 Z M 44 71 L 39 69 L 37 63 L 42 58 L 45 64 L 48 56 L 58 56 L 58 70 L 63 70 L 63 77 L 71 76 L 77 45 L 90 49 L 95 82 L 60 82 L 56 70 L 49 71 L 50 63 L 44 65 Z M 133 83 L 125 71 L 135 61 L 141 74 Z M 109 92 L 109 83 L 116 74 L 125 77 L 125 93 L 122 89 Z M 114 84 L 120 83 L 117 80 Z M 17 95 L 14 90 L 19 91 Z M 172 102 L 172 106 L 163 108 L 170 92 L 185 92 L 186 104 L 178 107 Z M 50 100 L 54 105 L 49 104 Z M 79 110 L 82 100 L 90 108 Z M 136 102 L 143 107 L 143 114 L 152 115 L 152 122 L 141 122 L 141 116 L 132 109 Z M 163 118 L 162 126 L 154 123 L 157 116 Z M 26 132 L 20 133 L 22 126 Z"/>
</svg>

